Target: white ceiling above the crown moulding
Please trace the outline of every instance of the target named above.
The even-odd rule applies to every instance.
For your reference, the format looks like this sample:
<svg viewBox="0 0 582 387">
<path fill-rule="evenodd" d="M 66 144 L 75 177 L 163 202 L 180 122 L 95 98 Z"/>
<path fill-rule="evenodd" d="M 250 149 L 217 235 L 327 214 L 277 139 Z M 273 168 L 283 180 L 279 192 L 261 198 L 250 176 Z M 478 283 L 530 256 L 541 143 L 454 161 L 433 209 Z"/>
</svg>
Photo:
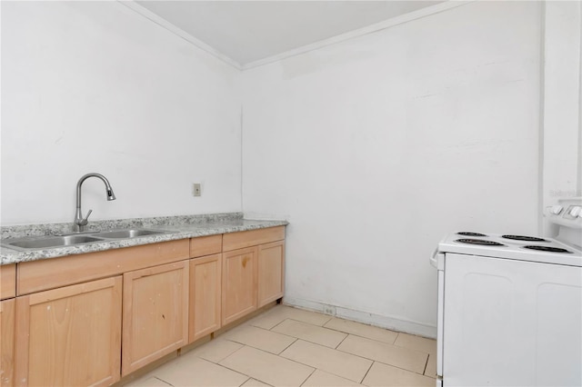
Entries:
<svg viewBox="0 0 582 387">
<path fill-rule="evenodd" d="M 245 67 L 442 1 L 135 1 Z"/>
</svg>

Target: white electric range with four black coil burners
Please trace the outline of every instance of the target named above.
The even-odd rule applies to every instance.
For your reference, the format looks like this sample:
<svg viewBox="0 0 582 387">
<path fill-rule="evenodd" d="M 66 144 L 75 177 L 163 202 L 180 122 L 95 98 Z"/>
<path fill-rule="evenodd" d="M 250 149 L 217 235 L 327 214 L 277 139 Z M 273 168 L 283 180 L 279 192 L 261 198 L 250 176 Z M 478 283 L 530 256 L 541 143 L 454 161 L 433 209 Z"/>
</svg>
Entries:
<svg viewBox="0 0 582 387">
<path fill-rule="evenodd" d="M 582 385 L 582 199 L 555 238 L 457 232 L 438 244 L 437 386 Z"/>
</svg>

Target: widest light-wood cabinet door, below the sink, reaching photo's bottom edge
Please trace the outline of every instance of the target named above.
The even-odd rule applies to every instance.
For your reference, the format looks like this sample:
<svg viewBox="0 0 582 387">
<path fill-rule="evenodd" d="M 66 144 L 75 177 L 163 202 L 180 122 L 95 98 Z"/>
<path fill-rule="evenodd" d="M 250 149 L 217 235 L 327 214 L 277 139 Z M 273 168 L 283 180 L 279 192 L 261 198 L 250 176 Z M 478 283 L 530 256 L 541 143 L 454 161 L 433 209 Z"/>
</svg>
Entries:
<svg viewBox="0 0 582 387">
<path fill-rule="evenodd" d="M 122 278 L 16 299 L 16 385 L 109 385 L 119 380 Z"/>
</svg>

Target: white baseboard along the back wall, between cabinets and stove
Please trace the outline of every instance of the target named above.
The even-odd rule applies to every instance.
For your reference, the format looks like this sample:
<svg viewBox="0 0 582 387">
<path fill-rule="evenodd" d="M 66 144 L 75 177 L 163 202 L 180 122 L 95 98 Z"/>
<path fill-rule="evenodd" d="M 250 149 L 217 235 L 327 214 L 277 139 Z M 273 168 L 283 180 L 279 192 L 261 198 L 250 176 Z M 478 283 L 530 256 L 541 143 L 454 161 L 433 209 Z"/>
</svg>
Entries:
<svg viewBox="0 0 582 387">
<path fill-rule="evenodd" d="M 283 298 L 283 303 L 289 306 L 296 306 L 310 311 L 329 314 L 358 323 L 366 323 L 380 328 L 386 328 L 392 331 L 411 333 L 417 336 L 428 337 L 430 339 L 437 338 L 437 327 L 426 323 L 416 323 L 381 314 L 356 311 L 341 306 L 287 296 Z"/>
</svg>

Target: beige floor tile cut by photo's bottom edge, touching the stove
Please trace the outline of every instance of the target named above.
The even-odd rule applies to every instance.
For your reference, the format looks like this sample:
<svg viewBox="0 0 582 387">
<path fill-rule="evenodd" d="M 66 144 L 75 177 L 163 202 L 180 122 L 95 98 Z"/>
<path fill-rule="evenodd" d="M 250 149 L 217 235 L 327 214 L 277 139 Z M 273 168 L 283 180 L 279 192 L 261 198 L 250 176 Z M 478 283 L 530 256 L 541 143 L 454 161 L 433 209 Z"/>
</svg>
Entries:
<svg viewBox="0 0 582 387">
<path fill-rule="evenodd" d="M 382 364 L 381 362 L 374 362 L 370 371 L 367 372 L 364 382 L 366 386 L 426 386 L 434 387 L 435 380 L 419 375 L 415 372 L 409 372 L 391 365 Z"/>
</svg>

